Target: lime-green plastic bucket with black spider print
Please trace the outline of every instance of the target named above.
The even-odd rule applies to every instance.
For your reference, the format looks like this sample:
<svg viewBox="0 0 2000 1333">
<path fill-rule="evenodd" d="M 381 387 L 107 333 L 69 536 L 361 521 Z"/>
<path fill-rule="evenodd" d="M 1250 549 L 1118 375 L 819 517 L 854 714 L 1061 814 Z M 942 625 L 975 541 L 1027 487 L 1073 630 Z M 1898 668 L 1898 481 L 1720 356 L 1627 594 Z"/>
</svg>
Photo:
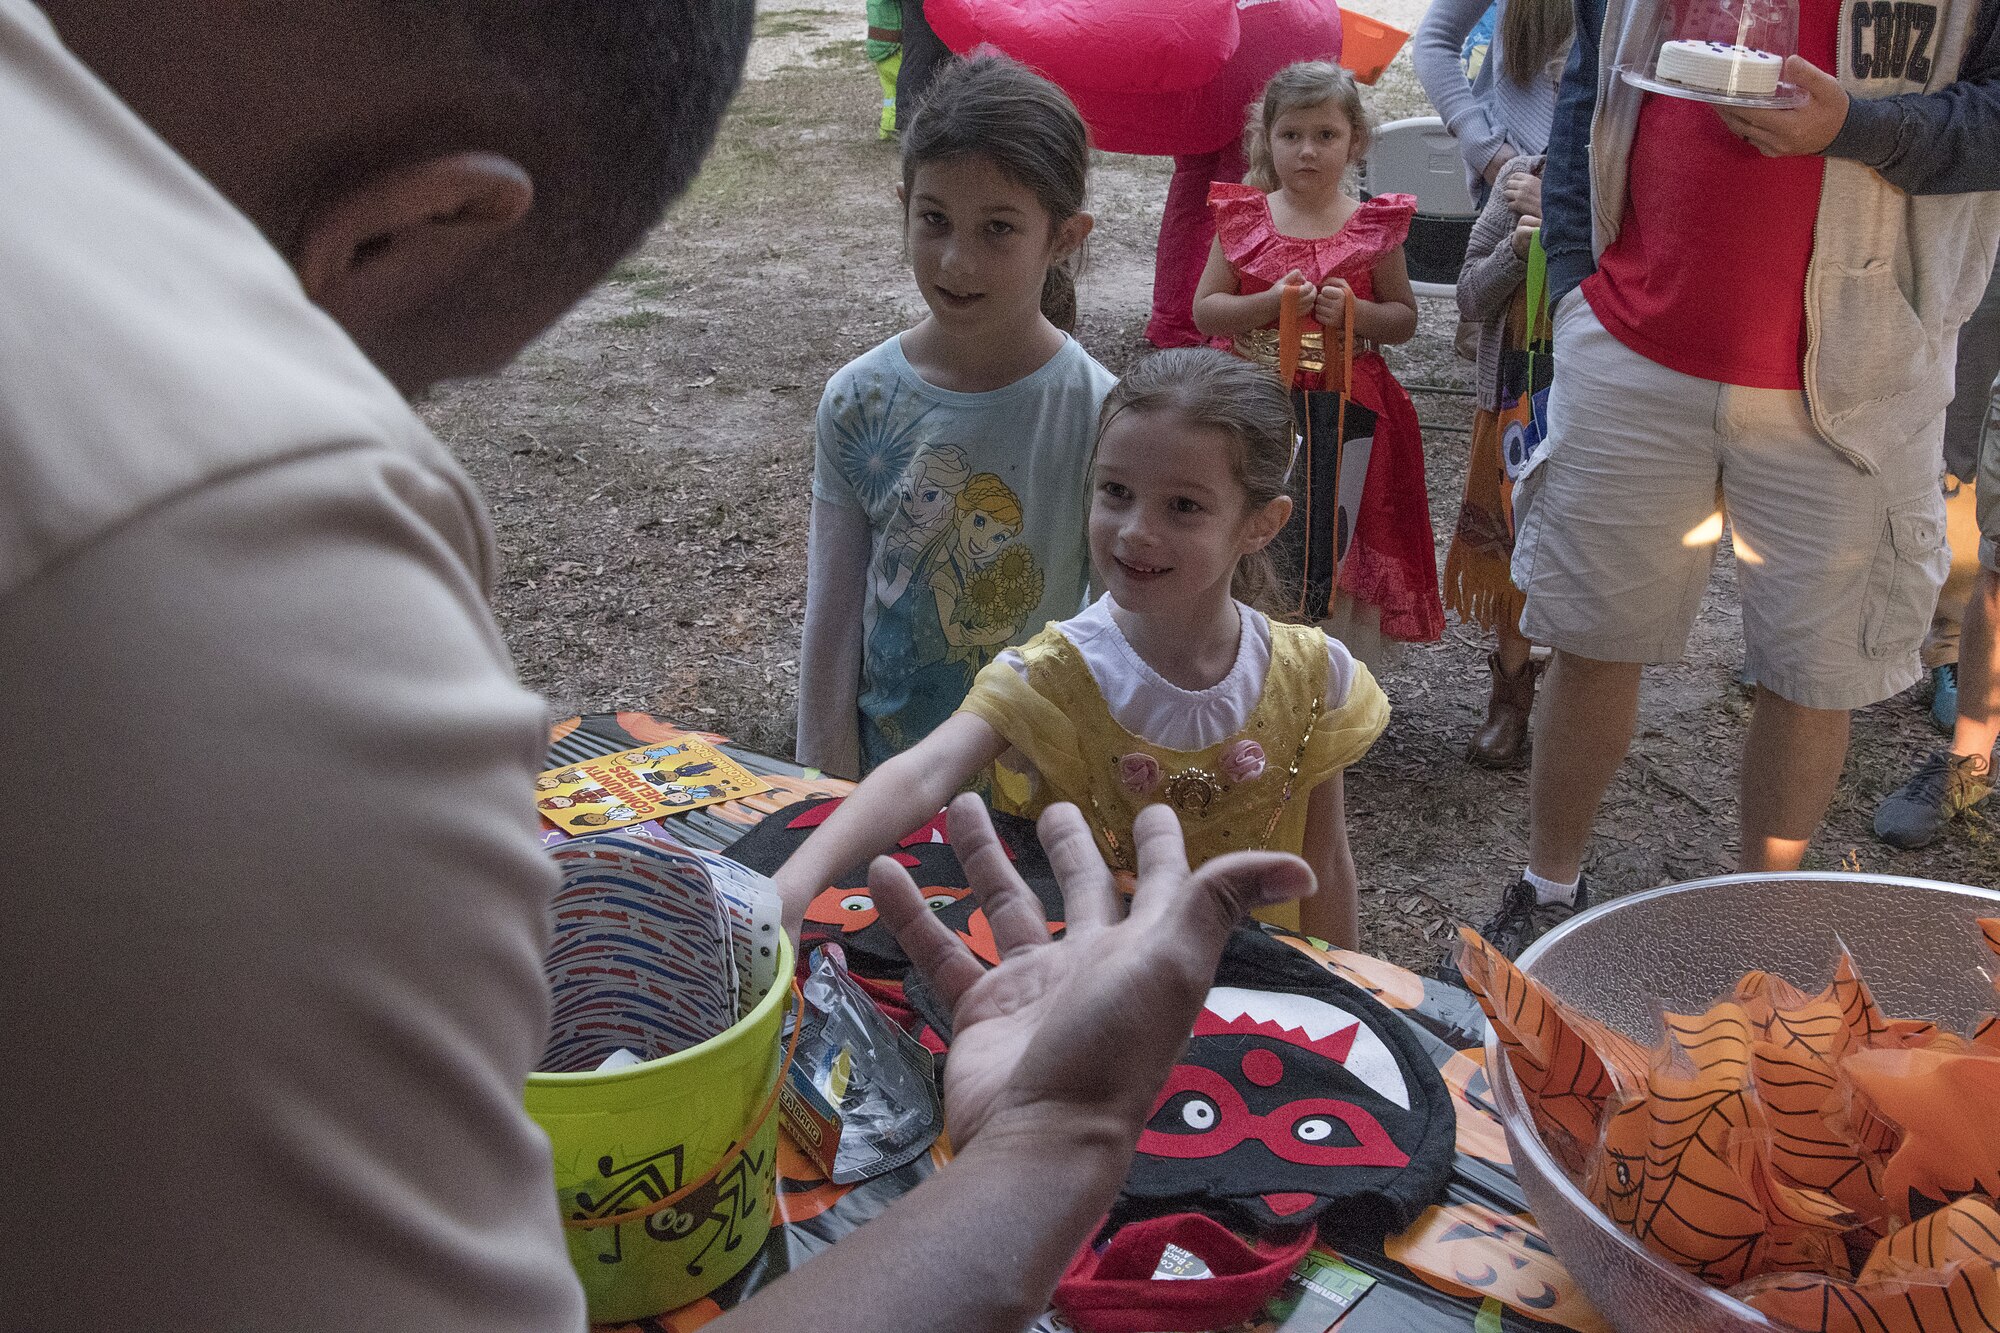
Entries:
<svg viewBox="0 0 2000 1333">
<path fill-rule="evenodd" d="M 780 941 L 778 983 L 726 1033 L 612 1073 L 528 1075 L 528 1115 L 554 1149 L 592 1323 L 678 1309 L 762 1249 L 778 1189 L 774 1093 L 790 977 L 792 945 Z"/>
</svg>

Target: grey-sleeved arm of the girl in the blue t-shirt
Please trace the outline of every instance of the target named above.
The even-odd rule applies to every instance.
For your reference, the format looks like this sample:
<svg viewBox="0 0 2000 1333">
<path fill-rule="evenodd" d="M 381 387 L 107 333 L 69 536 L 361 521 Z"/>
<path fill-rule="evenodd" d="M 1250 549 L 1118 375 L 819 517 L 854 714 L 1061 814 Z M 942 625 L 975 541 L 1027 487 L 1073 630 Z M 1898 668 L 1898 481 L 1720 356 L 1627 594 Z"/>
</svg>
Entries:
<svg viewBox="0 0 2000 1333">
<path fill-rule="evenodd" d="M 806 626 L 798 644 L 798 763 L 860 777 L 862 600 L 868 514 L 812 502 L 806 534 Z"/>
</svg>

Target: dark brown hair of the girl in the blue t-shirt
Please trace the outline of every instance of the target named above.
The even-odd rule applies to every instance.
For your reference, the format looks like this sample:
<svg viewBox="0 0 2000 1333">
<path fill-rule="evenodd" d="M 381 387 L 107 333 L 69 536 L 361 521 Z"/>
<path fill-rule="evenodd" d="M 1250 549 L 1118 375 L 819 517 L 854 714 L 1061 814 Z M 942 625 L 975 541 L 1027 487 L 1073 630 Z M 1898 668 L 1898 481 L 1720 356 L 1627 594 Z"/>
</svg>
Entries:
<svg viewBox="0 0 2000 1333">
<path fill-rule="evenodd" d="M 986 158 L 1026 186 L 1048 214 L 1050 236 L 1084 210 L 1090 132 L 1062 88 L 1006 56 L 954 60 L 932 80 L 902 134 L 902 192 L 916 192 L 926 162 Z M 1064 254 L 1042 278 L 1042 314 L 1076 328 L 1076 268 Z"/>
</svg>

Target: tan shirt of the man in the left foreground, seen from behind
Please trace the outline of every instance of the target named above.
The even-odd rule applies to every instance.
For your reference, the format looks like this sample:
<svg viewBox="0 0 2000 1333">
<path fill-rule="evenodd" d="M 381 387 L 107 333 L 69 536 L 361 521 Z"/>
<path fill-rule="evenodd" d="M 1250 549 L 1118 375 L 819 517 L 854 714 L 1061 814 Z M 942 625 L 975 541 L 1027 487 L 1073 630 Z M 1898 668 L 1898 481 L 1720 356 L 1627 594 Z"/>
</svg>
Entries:
<svg viewBox="0 0 2000 1333">
<path fill-rule="evenodd" d="M 0 0 L 0 1327 L 578 1329 L 480 498 Z"/>
</svg>

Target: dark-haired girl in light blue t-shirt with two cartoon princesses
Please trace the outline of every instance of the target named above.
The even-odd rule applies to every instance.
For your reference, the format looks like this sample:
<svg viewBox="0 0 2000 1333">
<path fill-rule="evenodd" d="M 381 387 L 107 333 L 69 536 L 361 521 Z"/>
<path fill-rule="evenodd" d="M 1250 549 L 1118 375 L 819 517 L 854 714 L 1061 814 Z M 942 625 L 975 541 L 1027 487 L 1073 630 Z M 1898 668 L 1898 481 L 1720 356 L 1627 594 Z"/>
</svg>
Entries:
<svg viewBox="0 0 2000 1333">
<path fill-rule="evenodd" d="M 904 134 L 904 244 L 930 314 L 820 400 L 804 765 L 860 777 L 906 751 L 1000 648 L 1084 600 L 1112 386 L 1066 332 L 1088 152 L 1070 100 L 998 56 L 940 74 Z"/>
</svg>

